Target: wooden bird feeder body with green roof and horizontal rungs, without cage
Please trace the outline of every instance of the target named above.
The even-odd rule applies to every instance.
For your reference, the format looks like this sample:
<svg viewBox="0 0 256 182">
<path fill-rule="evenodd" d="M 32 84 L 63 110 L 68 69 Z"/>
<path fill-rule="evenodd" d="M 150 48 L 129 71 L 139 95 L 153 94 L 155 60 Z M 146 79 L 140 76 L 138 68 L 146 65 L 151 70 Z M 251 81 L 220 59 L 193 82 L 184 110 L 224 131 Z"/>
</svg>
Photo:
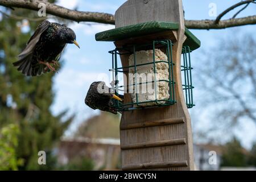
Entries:
<svg viewBox="0 0 256 182">
<path fill-rule="evenodd" d="M 96 34 L 117 48 L 152 40 L 171 40 L 174 63 L 174 105 L 123 111 L 120 124 L 123 170 L 193 170 L 191 118 L 181 82 L 183 46 L 200 41 L 184 26 L 181 0 L 129 0 L 115 12 L 115 29 Z M 193 47 L 194 46 L 194 47 Z M 121 55 L 122 67 L 129 55 Z M 125 102 L 131 100 L 125 93 Z"/>
</svg>

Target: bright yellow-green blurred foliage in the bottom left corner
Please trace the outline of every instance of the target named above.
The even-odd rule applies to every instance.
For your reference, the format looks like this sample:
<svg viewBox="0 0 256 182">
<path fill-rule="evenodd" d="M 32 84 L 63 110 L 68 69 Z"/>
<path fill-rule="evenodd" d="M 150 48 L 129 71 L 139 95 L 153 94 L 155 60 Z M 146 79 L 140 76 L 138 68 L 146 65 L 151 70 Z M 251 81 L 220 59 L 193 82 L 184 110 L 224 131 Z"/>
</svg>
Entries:
<svg viewBox="0 0 256 182">
<path fill-rule="evenodd" d="M 9 124 L 0 130 L 0 171 L 18 170 L 23 164 L 22 159 L 16 156 L 18 146 L 19 126 Z"/>
</svg>

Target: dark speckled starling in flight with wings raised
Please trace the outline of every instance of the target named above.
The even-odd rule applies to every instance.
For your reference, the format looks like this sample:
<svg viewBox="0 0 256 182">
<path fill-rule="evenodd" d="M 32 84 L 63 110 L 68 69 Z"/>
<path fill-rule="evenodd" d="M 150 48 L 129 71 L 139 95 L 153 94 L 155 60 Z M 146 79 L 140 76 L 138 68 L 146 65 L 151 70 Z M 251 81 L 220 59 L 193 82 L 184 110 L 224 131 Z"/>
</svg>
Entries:
<svg viewBox="0 0 256 182">
<path fill-rule="evenodd" d="M 27 47 L 18 55 L 18 61 L 13 65 L 26 76 L 39 76 L 55 71 L 54 66 L 58 65 L 57 61 L 67 43 L 79 47 L 75 32 L 65 24 L 44 20 L 36 28 L 27 42 Z"/>
</svg>

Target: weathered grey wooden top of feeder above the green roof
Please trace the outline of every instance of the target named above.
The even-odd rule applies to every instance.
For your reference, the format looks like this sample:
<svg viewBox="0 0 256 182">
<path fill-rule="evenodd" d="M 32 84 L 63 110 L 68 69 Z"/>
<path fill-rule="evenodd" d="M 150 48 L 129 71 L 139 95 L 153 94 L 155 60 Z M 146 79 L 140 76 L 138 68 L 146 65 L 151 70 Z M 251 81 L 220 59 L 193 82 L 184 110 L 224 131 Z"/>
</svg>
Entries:
<svg viewBox="0 0 256 182">
<path fill-rule="evenodd" d="M 177 0 L 148 0 L 147 3 L 144 0 L 129 0 L 115 11 L 115 28 L 151 21 L 179 23 L 177 13 Z"/>
</svg>

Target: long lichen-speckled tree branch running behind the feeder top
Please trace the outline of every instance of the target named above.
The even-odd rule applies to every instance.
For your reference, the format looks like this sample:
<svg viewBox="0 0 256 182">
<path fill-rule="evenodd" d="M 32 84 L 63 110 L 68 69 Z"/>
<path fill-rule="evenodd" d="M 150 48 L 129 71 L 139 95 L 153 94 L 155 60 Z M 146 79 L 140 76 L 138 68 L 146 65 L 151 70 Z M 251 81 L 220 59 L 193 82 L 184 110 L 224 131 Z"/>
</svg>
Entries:
<svg viewBox="0 0 256 182">
<path fill-rule="evenodd" d="M 250 2 L 251 1 L 255 0 L 250 0 Z M 38 0 L 0 0 L 0 5 L 5 7 L 19 7 L 35 11 L 40 9 L 38 7 L 39 3 L 44 3 L 46 5 L 46 12 L 48 14 L 59 16 L 60 18 L 69 19 L 76 22 L 114 24 L 114 15 L 112 14 L 69 10 L 53 3 Z M 215 20 L 185 20 L 185 26 L 191 29 L 221 29 L 243 26 L 246 24 L 256 24 L 256 15 L 247 16 L 245 18 L 221 20 L 218 23 L 216 23 Z"/>
</svg>

